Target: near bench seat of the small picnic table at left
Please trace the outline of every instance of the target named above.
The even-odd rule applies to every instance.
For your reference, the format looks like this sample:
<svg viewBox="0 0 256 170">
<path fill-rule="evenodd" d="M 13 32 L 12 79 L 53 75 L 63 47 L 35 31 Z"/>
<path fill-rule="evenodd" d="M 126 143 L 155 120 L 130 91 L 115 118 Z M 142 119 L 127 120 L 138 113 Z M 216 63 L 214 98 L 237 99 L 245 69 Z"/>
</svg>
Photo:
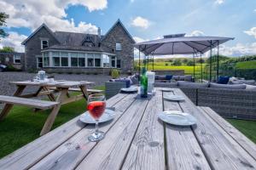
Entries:
<svg viewBox="0 0 256 170">
<path fill-rule="evenodd" d="M 54 102 L 54 101 L 26 99 L 26 98 L 5 96 L 5 95 L 0 95 L 0 102 L 3 102 L 5 104 L 11 104 L 11 105 L 25 105 L 25 106 L 29 106 L 37 109 L 42 109 L 42 110 L 50 109 L 55 105 L 59 104 L 59 102 Z"/>
</svg>

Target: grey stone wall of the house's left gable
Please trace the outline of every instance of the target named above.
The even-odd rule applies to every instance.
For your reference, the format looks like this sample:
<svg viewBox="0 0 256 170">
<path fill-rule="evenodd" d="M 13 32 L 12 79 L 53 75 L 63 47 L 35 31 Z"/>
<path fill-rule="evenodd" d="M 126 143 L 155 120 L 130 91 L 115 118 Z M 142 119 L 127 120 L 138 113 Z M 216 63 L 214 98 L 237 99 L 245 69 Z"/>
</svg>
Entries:
<svg viewBox="0 0 256 170">
<path fill-rule="evenodd" d="M 27 42 L 25 46 L 26 55 L 26 71 L 37 70 L 37 57 L 41 54 L 41 39 L 47 38 L 49 46 L 58 44 L 50 32 L 43 26 L 35 35 L 33 35 Z"/>
</svg>

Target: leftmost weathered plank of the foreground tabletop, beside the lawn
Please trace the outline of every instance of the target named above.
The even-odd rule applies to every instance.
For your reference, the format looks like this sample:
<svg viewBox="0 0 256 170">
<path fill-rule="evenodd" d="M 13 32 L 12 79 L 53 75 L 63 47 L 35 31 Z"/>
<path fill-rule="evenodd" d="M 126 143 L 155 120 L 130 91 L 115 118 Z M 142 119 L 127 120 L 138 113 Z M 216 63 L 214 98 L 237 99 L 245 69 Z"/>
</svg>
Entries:
<svg viewBox="0 0 256 170">
<path fill-rule="evenodd" d="M 118 103 L 126 95 L 118 94 L 113 96 L 113 98 L 108 99 L 107 105 L 112 106 Z M 32 167 L 85 126 L 84 123 L 79 122 L 79 116 L 73 118 L 73 120 L 61 125 L 61 127 L 55 128 L 55 130 L 32 141 L 30 144 L 26 144 L 19 150 L 15 150 L 15 152 L 3 157 L 0 160 L 0 169 L 20 170 Z"/>
</svg>

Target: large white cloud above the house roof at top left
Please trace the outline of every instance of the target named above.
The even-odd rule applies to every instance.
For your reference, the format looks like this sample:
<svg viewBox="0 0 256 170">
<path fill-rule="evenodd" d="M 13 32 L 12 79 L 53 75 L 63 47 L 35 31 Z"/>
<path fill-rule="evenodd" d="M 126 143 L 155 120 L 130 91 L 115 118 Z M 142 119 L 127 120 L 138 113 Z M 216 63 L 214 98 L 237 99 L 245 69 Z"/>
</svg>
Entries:
<svg viewBox="0 0 256 170">
<path fill-rule="evenodd" d="M 79 31 L 94 32 L 96 26 L 90 23 L 79 22 L 75 26 L 73 20 L 66 20 L 67 13 L 65 9 L 71 5 L 82 5 L 91 12 L 93 10 L 102 10 L 107 8 L 107 0 L 3 0 L 0 1 L 0 11 L 9 14 L 7 26 L 28 27 L 32 31 L 45 23 L 53 31 Z"/>
</svg>

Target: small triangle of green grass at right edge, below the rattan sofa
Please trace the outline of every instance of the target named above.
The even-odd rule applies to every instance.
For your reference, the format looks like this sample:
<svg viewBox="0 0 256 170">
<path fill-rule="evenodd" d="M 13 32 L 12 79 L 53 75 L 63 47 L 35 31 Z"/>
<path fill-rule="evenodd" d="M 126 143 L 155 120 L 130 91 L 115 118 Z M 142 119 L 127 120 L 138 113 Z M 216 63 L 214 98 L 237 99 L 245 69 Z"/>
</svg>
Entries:
<svg viewBox="0 0 256 170">
<path fill-rule="evenodd" d="M 241 133 L 247 136 L 256 144 L 256 122 L 255 121 L 244 121 L 235 119 L 226 119 L 234 127 L 236 127 Z"/>
</svg>

